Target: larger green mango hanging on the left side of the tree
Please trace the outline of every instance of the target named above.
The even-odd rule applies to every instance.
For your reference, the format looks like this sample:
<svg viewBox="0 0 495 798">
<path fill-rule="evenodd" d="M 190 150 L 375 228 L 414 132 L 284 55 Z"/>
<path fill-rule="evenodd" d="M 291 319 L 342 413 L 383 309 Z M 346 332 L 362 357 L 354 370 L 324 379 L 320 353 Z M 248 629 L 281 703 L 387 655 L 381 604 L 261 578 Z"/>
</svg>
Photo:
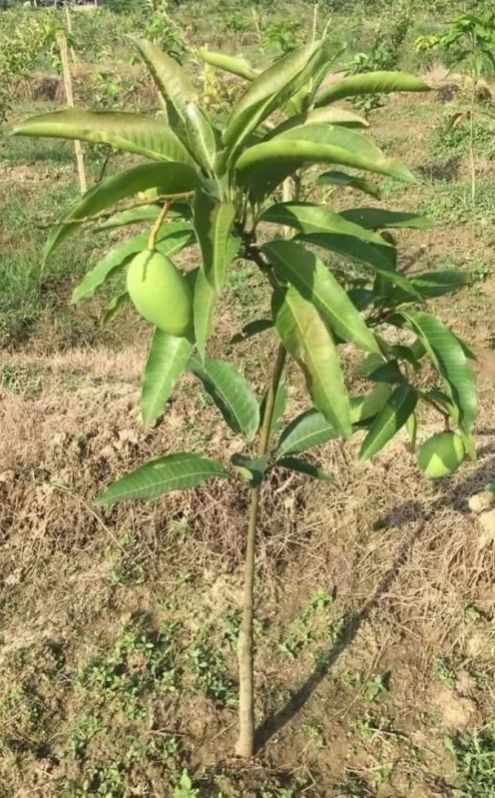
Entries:
<svg viewBox="0 0 495 798">
<path fill-rule="evenodd" d="M 129 264 L 127 290 L 138 313 L 160 330 L 181 337 L 192 328 L 189 282 L 160 252 L 140 252 Z"/>
</svg>

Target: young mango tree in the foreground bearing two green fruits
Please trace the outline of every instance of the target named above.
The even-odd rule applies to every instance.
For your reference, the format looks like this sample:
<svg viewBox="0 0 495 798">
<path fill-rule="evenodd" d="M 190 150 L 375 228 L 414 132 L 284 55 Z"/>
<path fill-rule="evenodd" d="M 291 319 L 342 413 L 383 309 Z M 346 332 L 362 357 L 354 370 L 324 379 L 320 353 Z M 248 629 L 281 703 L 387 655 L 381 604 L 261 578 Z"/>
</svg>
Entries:
<svg viewBox="0 0 495 798">
<path fill-rule="evenodd" d="M 351 187 L 376 198 L 379 186 L 366 173 L 414 182 L 407 167 L 364 134 L 366 121 L 335 103 L 367 93 L 425 91 L 421 81 L 381 72 L 324 83 L 340 52 L 327 41 L 302 47 L 261 73 L 243 61 L 205 51 L 205 60 L 248 81 L 218 129 L 182 68 L 155 45 L 145 40 L 135 44 L 166 117 L 62 110 L 28 119 L 14 132 L 102 143 L 147 159 L 106 177 L 78 200 L 51 231 L 45 254 L 81 225 L 149 224 L 148 233 L 106 254 L 76 287 L 73 299 L 93 295 L 126 268 L 127 291 L 115 298 L 109 312 L 130 300 L 152 327 L 142 380 L 144 423 L 159 420 L 179 377 L 188 371 L 245 441 L 244 452 L 229 463 L 197 452 L 167 453 L 117 479 L 98 501 L 155 500 L 211 479 L 234 479 L 239 491 L 249 491 L 236 751 L 250 757 L 255 749 L 253 613 L 262 484 L 278 468 L 326 479 L 305 454 L 312 447 L 358 434 L 360 457 L 366 460 L 403 427 L 430 477 L 451 474 L 466 454 L 474 457 L 472 355 L 425 307 L 428 299 L 459 289 L 464 277 L 455 270 L 408 277 L 398 268 L 393 231 L 421 228 L 426 224 L 422 217 L 366 205 L 336 212 L 310 201 L 323 196 L 318 186 L 332 192 Z M 131 198 L 133 205 L 122 208 Z M 173 258 L 189 246 L 196 247 L 198 265 L 183 274 Z M 338 270 L 328 263 L 328 253 L 334 264 L 338 260 Z M 266 333 L 276 342 L 262 397 L 232 362 L 208 355 L 216 303 L 229 269 L 241 259 L 260 270 L 271 301 L 271 313 L 253 318 L 235 338 Z M 357 370 L 367 386 L 359 395 L 347 387 L 352 374 L 343 365 L 344 350 L 355 355 L 346 356 L 345 363 L 355 362 L 356 356 L 359 361 Z M 285 414 L 288 359 L 304 376 L 308 407 L 277 432 Z M 427 374 L 432 365 L 436 370 L 431 385 L 424 365 Z M 438 411 L 441 431 L 417 447 L 421 405 Z"/>
</svg>

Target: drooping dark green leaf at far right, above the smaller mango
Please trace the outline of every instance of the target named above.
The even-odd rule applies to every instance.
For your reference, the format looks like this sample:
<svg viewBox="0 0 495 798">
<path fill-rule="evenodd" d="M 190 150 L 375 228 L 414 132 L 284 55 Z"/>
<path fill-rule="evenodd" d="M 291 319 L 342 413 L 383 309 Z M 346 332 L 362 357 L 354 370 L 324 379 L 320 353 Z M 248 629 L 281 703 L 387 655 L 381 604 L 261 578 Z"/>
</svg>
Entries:
<svg viewBox="0 0 495 798">
<path fill-rule="evenodd" d="M 416 332 L 431 360 L 442 375 L 448 393 L 459 410 L 459 425 L 466 435 L 476 419 L 474 375 L 457 337 L 440 319 L 429 313 L 401 312 L 408 326 Z"/>
</svg>

